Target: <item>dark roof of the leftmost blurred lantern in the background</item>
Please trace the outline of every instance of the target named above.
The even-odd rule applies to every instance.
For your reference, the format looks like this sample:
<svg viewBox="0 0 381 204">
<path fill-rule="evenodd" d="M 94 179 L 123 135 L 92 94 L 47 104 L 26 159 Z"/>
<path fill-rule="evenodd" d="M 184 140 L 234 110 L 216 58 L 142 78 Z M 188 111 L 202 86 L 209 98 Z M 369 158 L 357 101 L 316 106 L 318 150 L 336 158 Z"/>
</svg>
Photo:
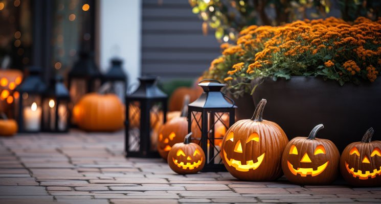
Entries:
<svg viewBox="0 0 381 204">
<path fill-rule="evenodd" d="M 28 67 L 27 70 L 29 71 L 29 76 L 26 77 L 15 90 L 20 93 L 42 94 L 47 86 L 40 77 L 40 67 L 31 66 Z"/>
</svg>

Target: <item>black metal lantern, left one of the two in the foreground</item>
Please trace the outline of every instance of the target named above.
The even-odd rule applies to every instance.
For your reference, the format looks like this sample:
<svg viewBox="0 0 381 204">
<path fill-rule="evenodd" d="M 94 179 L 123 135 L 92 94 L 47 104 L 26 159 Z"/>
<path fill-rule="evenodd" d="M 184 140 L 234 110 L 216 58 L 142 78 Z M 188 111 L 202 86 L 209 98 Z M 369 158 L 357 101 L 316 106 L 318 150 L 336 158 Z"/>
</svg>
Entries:
<svg viewBox="0 0 381 204">
<path fill-rule="evenodd" d="M 126 157 L 159 157 L 156 139 L 166 121 L 168 96 L 156 86 L 156 78 L 139 78 L 140 86 L 126 96 Z"/>
</svg>

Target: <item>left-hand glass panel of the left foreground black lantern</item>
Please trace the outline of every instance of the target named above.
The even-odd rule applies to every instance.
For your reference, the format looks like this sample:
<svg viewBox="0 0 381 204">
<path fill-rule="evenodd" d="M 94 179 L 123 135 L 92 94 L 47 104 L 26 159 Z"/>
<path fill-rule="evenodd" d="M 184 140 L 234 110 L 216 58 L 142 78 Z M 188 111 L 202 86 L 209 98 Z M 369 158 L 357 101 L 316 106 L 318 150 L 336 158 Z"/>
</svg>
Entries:
<svg viewBox="0 0 381 204">
<path fill-rule="evenodd" d="M 139 151 L 140 148 L 140 102 L 128 104 L 128 151 Z"/>
</svg>

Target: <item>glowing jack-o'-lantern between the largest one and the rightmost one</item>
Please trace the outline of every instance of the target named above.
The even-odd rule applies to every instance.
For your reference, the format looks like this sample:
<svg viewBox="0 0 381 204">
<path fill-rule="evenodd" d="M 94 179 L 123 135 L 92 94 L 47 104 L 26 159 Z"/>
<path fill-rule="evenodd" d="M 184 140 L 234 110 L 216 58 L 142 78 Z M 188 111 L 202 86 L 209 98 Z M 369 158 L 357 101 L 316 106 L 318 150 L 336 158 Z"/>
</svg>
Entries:
<svg viewBox="0 0 381 204">
<path fill-rule="evenodd" d="M 330 140 L 316 138 L 323 127 L 319 124 L 308 138 L 296 137 L 287 144 L 282 156 L 282 169 L 290 182 L 323 185 L 336 178 L 340 153 Z"/>
</svg>

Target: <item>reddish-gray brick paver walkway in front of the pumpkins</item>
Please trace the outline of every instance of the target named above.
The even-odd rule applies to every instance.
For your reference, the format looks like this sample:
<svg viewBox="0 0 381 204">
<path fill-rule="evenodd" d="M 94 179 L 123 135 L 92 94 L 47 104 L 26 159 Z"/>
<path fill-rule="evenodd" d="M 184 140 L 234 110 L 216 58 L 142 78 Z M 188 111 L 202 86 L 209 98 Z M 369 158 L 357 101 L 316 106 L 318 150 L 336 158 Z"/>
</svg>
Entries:
<svg viewBox="0 0 381 204">
<path fill-rule="evenodd" d="M 381 202 L 381 188 L 243 182 L 177 175 L 161 159 L 126 159 L 123 132 L 0 139 L 0 203 Z M 34 199 L 34 200 L 31 200 Z"/>
</svg>

